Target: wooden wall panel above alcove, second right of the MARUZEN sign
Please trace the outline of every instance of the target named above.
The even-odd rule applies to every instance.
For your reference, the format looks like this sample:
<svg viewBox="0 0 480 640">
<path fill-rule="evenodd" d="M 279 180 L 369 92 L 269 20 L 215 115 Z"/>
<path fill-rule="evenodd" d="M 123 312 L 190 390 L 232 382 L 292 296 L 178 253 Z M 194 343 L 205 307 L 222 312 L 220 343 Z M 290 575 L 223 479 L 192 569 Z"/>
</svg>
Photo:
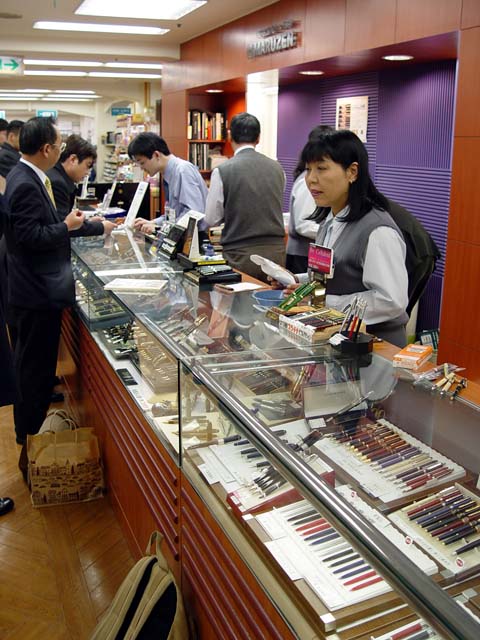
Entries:
<svg viewBox="0 0 480 640">
<path fill-rule="evenodd" d="M 396 0 L 347 0 L 345 51 L 394 42 L 395 9 Z"/>
</svg>

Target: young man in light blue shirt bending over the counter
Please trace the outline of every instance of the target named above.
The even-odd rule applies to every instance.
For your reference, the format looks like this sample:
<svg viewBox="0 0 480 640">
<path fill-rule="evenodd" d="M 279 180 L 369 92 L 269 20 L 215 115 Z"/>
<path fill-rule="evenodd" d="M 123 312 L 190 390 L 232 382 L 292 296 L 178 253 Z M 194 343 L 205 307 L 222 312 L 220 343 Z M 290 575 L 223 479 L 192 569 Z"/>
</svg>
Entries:
<svg viewBox="0 0 480 640">
<path fill-rule="evenodd" d="M 200 171 L 191 162 L 170 153 L 167 143 L 159 135 L 150 131 L 139 133 L 128 145 L 128 155 L 148 175 L 161 174 L 168 191 L 165 200 L 171 209 L 175 209 L 177 220 L 190 209 L 200 213 L 205 211 L 208 189 Z M 152 233 L 158 222 L 158 218 L 137 218 L 135 229 Z"/>
</svg>

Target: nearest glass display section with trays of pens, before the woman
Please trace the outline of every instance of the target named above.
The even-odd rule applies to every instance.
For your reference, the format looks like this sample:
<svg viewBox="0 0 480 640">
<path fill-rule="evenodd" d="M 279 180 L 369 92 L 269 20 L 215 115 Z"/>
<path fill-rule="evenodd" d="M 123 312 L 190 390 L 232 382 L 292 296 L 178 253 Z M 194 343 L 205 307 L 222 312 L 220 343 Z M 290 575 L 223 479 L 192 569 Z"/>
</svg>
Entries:
<svg viewBox="0 0 480 640">
<path fill-rule="evenodd" d="M 180 382 L 182 471 L 260 583 L 290 584 L 299 637 L 478 637 L 476 408 L 328 346 L 191 358 Z"/>
</svg>

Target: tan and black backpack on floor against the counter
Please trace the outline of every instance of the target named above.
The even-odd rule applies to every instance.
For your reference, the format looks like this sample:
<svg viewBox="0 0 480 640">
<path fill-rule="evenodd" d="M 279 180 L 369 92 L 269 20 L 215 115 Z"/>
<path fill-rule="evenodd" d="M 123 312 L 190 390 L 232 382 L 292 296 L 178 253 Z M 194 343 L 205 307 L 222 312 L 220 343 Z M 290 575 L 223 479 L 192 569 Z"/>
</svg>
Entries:
<svg viewBox="0 0 480 640">
<path fill-rule="evenodd" d="M 152 533 L 147 555 L 129 571 L 91 640 L 188 640 L 182 595 L 161 552 L 162 539 Z"/>
</svg>

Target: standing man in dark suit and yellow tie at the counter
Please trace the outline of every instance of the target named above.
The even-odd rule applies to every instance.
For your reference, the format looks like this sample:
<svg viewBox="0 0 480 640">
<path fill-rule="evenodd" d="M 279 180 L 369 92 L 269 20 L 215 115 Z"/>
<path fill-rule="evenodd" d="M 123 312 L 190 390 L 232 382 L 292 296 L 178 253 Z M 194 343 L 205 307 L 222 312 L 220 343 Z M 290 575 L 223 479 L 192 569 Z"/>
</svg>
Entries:
<svg viewBox="0 0 480 640">
<path fill-rule="evenodd" d="M 8 175 L 8 322 L 14 348 L 17 442 L 38 433 L 50 404 L 57 364 L 62 309 L 75 301 L 70 231 L 80 211 L 59 216 L 46 172 L 63 145 L 49 118 L 32 118 L 20 133 L 20 162 Z"/>
</svg>

